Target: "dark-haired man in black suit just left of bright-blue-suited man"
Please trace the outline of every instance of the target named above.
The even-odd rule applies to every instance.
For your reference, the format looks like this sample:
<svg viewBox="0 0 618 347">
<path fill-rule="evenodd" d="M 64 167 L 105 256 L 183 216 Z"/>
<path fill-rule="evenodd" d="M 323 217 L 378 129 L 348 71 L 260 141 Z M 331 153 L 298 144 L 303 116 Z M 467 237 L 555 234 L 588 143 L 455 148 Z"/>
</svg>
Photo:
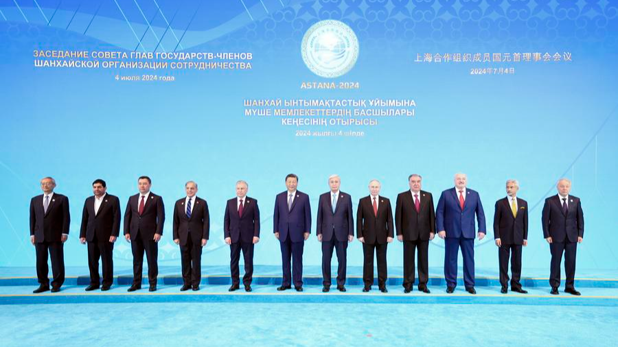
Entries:
<svg viewBox="0 0 618 347">
<path fill-rule="evenodd" d="M 404 243 L 404 292 L 414 285 L 414 253 L 418 250 L 418 290 L 429 293 L 429 241 L 435 237 L 433 196 L 421 190 L 422 177 L 413 173 L 408 177 L 410 190 L 397 195 L 395 226 L 397 239 Z"/>
</svg>

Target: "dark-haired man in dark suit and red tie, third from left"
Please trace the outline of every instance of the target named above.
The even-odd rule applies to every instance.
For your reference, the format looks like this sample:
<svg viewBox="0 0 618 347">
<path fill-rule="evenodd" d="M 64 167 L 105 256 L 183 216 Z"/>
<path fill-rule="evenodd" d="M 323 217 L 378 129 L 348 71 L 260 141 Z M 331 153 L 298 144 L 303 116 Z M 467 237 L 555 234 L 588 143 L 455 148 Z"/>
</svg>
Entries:
<svg viewBox="0 0 618 347">
<path fill-rule="evenodd" d="M 128 291 L 141 289 L 141 270 L 144 265 L 144 251 L 148 260 L 148 291 L 157 290 L 159 266 L 157 243 L 163 235 L 165 206 L 163 198 L 150 191 L 151 181 L 148 176 L 137 180 L 139 194 L 129 198 L 124 211 L 124 238 L 131 243 L 133 251 L 133 284 Z"/>
</svg>

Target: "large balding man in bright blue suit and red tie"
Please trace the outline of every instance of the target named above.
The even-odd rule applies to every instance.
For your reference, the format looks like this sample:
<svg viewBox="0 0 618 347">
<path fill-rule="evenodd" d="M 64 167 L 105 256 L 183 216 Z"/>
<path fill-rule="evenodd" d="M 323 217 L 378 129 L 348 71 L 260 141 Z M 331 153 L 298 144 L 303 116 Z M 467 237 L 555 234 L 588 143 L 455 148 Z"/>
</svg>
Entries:
<svg viewBox="0 0 618 347">
<path fill-rule="evenodd" d="M 470 294 L 474 290 L 474 215 L 479 222 L 479 241 L 485 237 L 485 213 L 479 193 L 466 188 L 468 177 L 455 174 L 455 188 L 446 189 L 440 195 L 435 224 L 438 236 L 444 239 L 444 278 L 446 292 L 453 293 L 457 286 L 457 256 L 459 247 L 464 256 L 464 285 Z"/>
</svg>

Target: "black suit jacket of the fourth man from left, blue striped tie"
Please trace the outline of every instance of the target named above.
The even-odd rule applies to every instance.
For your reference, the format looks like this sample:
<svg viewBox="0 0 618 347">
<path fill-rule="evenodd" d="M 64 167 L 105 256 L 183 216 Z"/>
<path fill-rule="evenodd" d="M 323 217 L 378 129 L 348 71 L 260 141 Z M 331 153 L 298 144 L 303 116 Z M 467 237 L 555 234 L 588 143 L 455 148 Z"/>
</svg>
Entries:
<svg viewBox="0 0 618 347">
<path fill-rule="evenodd" d="M 200 244 L 202 239 L 208 239 L 210 231 L 210 217 L 206 200 L 194 197 L 191 206 L 191 218 L 187 217 L 185 198 L 179 199 L 174 204 L 174 218 L 172 222 L 172 237 L 180 240 L 180 245 L 187 244 L 187 238 L 191 235 L 193 243 Z"/>
</svg>

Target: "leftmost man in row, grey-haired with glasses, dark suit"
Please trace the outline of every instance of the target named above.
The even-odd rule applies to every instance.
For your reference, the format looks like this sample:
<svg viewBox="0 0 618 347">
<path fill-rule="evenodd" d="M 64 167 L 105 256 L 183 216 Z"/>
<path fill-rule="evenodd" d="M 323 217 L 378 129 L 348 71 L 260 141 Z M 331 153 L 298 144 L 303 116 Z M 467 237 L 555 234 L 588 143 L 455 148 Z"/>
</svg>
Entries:
<svg viewBox="0 0 618 347">
<path fill-rule="evenodd" d="M 33 293 L 49 290 L 47 252 L 52 258 L 52 292 L 60 291 L 65 283 L 65 255 L 63 244 L 69 238 L 69 198 L 54 193 L 56 181 L 46 177 L 41 180 L 43 195 L 30 200 L 30 242 L 36 248 L 36 277 L 40 284 Z"/>
</svg>

